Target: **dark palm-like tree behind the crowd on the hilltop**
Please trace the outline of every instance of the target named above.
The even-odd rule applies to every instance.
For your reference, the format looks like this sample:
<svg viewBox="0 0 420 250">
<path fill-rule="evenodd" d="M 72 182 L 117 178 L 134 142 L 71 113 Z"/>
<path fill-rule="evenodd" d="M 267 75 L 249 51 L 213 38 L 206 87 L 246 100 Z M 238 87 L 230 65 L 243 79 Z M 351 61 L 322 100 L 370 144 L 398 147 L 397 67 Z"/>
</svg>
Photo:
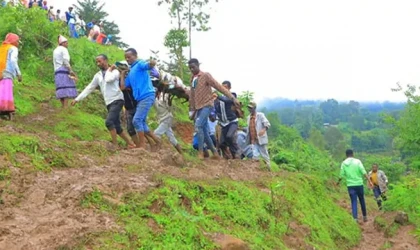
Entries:
<svg viewBox="0 0 420 250">
<path fill-rule="evenodd" d="M 91 22 L 102 21 L 104 24 L 104 32 L 107 35 L 112 35 L 112 43 L 120 48 L 126 48 L 128 45 L 121 40 L 120 29 L 118 25 L 112 21 L 106 20 L 109 16 L 108 13 L 104 10 L 105 3 L 100 4 L 98 0 L 78 0 L 77 4 L 74 4 L 74 9 L 76 14 L 81 16 L 84 21 Z"/>
</svg>

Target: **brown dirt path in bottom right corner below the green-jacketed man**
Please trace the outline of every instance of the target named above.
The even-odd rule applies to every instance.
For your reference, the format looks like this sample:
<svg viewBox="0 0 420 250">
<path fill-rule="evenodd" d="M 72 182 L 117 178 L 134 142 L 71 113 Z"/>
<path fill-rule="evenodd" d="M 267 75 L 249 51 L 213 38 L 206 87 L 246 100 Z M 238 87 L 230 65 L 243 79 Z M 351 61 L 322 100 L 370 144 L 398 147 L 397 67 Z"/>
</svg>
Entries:
<svg viewBox="0 0 420 250">
<path fill-rule="evenodd" d="M 393 249 L 393 250 L 418 250 L 420 245 L 418 240 L 410 234 L 415 230 L 414 226 L 400 226 L 398 232 L 387 238 L 384 231 L 375 227 L 374 218 L 381 216 L 385 218 L 388 223 L 393 221 L 395 213 L 382 213 L 375 211 L 369 215 L 369 221 L 360 223 L 362 229 L 362 240 L 360 245 L 354 250 L 379 250 L 379 249 Z"/>
</svg>

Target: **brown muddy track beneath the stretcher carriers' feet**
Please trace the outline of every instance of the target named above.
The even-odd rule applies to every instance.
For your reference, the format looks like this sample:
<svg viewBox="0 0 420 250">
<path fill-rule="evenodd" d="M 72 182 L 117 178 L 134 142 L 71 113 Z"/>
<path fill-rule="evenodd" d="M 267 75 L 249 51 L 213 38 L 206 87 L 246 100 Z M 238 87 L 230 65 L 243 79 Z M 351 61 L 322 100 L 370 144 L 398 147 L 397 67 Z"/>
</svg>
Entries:
<svg viewBox="0 0 420 250">
<path fill-rule="evenodd" d="M 250 162 L 209 161 L 182 169 L 179 165 L 185 163 L 165 149 L 159 153 L 121 151 L 108 163 L 51 173 L 25 173 L 12 167 L 11 183 L 3 187 L 0 204 L 0 249 L 56 249 L 88 233 L 118 230 L 111 216 L 81 206 L 84 195 L 94 188 L 118 199 L 124 193 L 155 187 L 154 180 L 161 174 L 190 180 L 249 180 L 270 175 Z"/>
</svg>

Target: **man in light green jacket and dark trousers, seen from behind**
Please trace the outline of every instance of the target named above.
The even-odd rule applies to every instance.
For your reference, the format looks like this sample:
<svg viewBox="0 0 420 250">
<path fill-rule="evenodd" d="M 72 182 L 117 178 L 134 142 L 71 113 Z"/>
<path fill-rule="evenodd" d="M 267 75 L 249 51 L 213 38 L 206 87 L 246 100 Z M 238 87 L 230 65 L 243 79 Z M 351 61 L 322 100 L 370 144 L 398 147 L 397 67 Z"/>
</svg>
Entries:
<svg viewBox="0 0 420 250">
<path fill-rule="evenodd" d="M 363 221 L 367 222 L 367 211 L 365 203 L 365 194 L 363 187 L 363 177 L 365 177 L 369 183 L 369 187 L 372 187 L 372 182 L 366 173 L 366 169 L 359 159 L 354 158 L 353 150 L 348 149 L 346 151 L 346 159 L 341 164 L 340 178 L 338 179 L 337 185 L 340 184 L 342 179 L 346 179 L 347 190 L 349 192 L 351 200 L 351 211 L 353 219 L 357 221 L 357 199 L 359 199 L 360 206 L 362 208 Z"/>
</svg>

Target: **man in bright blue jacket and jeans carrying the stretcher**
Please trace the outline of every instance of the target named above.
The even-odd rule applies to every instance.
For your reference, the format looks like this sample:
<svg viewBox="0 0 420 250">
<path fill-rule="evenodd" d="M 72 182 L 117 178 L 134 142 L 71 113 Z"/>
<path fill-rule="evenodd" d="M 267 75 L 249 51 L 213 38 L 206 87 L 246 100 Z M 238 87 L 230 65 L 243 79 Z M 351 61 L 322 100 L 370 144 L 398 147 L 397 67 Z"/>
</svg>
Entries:
<svg viewBox="0 0 420 250">
<path fill-rule="evenodd" d="M 147 116 L 155 102 L 155 89 L 150 79 L 149 70 L 156 66 L 155 60 L 146 62 L 139 60 L 135 49 L 125 51 L 125 60 L 130 65 L 130 72 L 121 73 L 121 89 L 131 88 L 134 99 L 137 102 L 136 113 L 133 118 L 133 125 L 139 137 L 139 148 L 146 148 L 146 136 L 155 141 L 157 147 L 160 146 L 160 139 L 150 131 L 147 126 Z"/>
</svg>

